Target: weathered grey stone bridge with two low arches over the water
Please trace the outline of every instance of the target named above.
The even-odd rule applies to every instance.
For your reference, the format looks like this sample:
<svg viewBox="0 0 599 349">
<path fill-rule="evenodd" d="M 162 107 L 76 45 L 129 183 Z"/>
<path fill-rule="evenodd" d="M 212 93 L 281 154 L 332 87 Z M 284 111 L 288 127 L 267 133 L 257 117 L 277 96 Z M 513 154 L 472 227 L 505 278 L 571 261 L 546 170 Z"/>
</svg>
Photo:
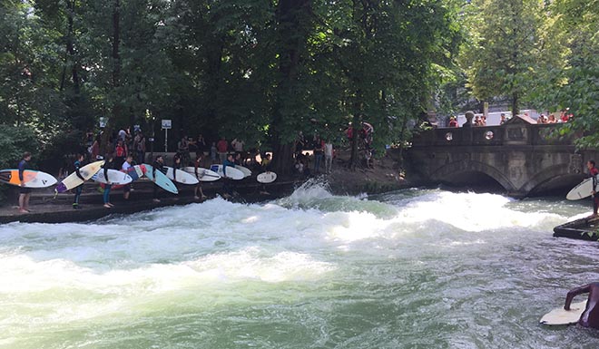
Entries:
<svg viewBox="0 0 599 349">
<path fill-rule="evenodd" d="M 496 182 L 516 198 L 567 192 L 584 178 L 587 160 L 599 166 L 599 152 L 576 150 L 560 127 L 515 117 L 501 126 L 433 129 L 414 138 L 408 160 L 430 184 Z"/>
</svg>

